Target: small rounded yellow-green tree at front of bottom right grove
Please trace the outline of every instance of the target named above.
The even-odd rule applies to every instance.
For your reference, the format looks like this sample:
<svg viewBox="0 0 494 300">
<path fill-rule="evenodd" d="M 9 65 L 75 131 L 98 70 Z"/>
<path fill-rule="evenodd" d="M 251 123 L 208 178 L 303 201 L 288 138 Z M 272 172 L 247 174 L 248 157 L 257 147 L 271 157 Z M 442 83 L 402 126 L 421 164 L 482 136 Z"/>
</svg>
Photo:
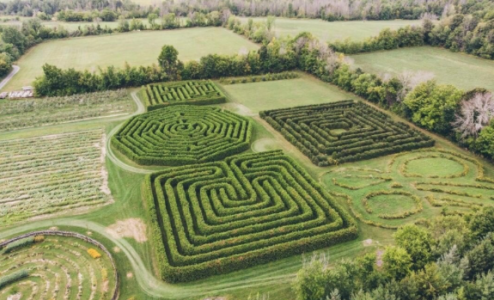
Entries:
<svg viewBox="0 0 494 300">
<path fill-rule="evenodd" d="M 400 280 L 410 273 L 412 258 L 401 247 L 388 247 L 382 260 L 384 273 L 391 279 Z"/>
</svg>

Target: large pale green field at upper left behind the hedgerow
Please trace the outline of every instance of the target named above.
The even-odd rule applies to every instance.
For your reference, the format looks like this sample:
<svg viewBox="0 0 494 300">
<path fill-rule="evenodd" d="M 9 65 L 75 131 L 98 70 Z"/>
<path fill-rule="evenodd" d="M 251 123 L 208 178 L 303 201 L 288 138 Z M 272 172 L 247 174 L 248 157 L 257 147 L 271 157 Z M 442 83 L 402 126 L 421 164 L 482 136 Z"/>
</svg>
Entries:
<svg viewBox="0 0 494 300">
<path fill-rule="evenodd" d="M 224 28 L 208 27 L 169 31 L 143 31 L 93 37 L 54 40 L 30 49 L 18 61 L 21 70 L 4 90 L 31 85 L 43 74 L 45 63 L 61 68 L 87 69 L 114 65 L 123 67 L 151 65 L 158 62 L 161 47 L 173 45 L 183 61 L 199 60 L 207 54 L 236 54 L 258 46 Z"/>
</svg>

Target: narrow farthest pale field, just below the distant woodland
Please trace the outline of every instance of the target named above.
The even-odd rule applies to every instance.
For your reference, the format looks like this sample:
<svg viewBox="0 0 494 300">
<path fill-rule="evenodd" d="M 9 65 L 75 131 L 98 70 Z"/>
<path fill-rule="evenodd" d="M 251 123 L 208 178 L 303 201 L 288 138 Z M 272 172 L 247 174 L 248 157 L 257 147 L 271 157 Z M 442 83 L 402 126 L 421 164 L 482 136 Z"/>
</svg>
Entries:
<svg viewBox="0 0 494 300">
<path fill-rule="evenodd" d="M 241 18 L 247 22 L 248 18 Z M 266 18 L 254 18 L 254 21 L 265 22 Z M 278 36 L 292 37 L 300 32 L 310 32 L 319 39 L 334 42 L 347 38 L 353 41 L 362 41 L 379 34 L 383 29 L 398 29 L 408 25 L 420 25 L 420 20 L 392 20 L 392 21 L 341 21 L 328 22 L 311 19 L 277 18 L 274 30 Z"/>
</svg>

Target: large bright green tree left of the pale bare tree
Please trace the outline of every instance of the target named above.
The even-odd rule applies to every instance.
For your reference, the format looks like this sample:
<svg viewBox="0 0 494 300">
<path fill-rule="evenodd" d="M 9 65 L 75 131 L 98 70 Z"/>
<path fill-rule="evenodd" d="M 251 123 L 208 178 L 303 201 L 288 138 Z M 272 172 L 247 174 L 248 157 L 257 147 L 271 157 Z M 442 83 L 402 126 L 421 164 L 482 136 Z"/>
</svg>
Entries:
<svg viewBox="0 0 494 300">
<path fill-rule="evenodd" d="M 437 133 L 449 134 L 463 92 L 453 86 L 428 81 L 417 86 L 403 102 L 414 123 Z"/>
</svg>

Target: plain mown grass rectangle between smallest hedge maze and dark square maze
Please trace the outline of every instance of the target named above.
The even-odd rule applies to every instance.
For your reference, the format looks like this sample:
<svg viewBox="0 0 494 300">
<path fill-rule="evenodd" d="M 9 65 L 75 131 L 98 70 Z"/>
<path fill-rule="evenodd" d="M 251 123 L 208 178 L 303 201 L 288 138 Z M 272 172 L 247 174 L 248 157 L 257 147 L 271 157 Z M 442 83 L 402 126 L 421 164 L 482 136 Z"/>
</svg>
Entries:
<svg viewBox="0 0 494 300">
<path fill-rule="evenodd" d="M 223 85 L 231 102 L 252 112 L 356 99 L 353 94 L 307 75 L 298 79 Z"/>
</svg>

